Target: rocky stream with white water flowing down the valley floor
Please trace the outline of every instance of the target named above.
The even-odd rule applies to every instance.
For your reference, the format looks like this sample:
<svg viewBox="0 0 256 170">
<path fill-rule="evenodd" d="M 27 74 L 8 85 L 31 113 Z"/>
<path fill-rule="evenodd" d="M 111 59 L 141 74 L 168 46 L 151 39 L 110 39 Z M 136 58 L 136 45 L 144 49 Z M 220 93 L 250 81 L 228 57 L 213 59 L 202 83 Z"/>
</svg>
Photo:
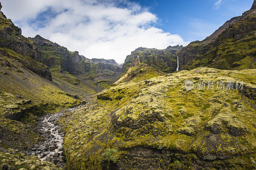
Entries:
<svg viewBox="0 0 256 170">
<path fill-rule="evenodd" d="M 41 138 L 43 139 L 38 141 L 37 144 L 30 145 L 26 150 L 27 155 L 36 155 L 41 161 L 49 161 L 56 166 L 63 167 L 65 156 L 62 153 L 62 145 L 64 144 L 63 137 L 65 136 L 65 132 L 62 130 L 60 124 L 58 124 L 58 120 L 64 113 L 73 112 L 84 106 L 80 105 L 40 117 L 36 130 L 40 131 Z"/>
</svg>

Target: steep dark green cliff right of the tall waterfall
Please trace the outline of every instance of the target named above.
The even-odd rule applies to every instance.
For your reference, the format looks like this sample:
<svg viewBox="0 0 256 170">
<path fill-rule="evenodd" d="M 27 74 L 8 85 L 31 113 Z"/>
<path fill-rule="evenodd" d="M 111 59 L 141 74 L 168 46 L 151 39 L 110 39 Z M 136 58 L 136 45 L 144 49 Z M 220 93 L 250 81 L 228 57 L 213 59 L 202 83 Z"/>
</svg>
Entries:
<svg viewBox="0 0 256 170">
<path fill-rule="evenodd" d="M 180 70 L 207 66 L 219 69 L 255 68 L 255 1 L 251 10 L 232 18 L 203 41 L 177 53 Z"/>
</svg>

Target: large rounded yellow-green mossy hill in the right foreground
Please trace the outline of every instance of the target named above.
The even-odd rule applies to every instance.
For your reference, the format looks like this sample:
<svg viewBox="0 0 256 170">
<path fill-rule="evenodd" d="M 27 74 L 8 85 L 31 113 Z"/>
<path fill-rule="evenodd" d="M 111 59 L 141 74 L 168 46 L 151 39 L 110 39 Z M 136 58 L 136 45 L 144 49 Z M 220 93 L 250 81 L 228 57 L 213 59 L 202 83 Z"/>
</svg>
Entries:
<svg viewBox="0 0 256 170">
<path fill-rule="evenodd" d="M 129 156 L 136 155 L 133 148 L 152 148 L 150 153 L 163 156 L 156 160 L 171 169 L 189 169 L 195 164 L 210 169 L 255 168 L 256 117 L 252 93 L 207 87 L 187 91 L 184 87 L 188 79 L 198 83 L 236 82 L 241 78 L 244 88 L 253 90 L 256 86 L 250 82 L 256 81 L 255 71 L 199 69 L 203 74 L 191 70 L 137 83 L 116 82 L 98 95 L 100 100 L 95 100 L 95 104 L 67 113 L 68 117 L 61 122 L 67 132 L 64 151 L 68 167 L 129 169 L 146 161 L 143 156 Z M 95 134 L 88 135 L 90 130 Z M 106 164 L 103 153 L 107 148 L 117 150 L 115 164 Z M 166 155 L 171 162 L 165 161 Z"/>
</svg>

